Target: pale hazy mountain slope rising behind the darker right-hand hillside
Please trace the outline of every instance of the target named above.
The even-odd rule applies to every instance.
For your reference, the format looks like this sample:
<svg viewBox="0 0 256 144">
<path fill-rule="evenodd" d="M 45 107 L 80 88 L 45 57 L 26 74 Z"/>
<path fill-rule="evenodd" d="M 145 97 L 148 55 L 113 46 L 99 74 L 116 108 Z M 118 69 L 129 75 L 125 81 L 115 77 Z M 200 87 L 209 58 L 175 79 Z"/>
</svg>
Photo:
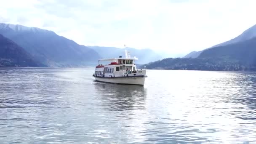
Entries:
<svg viewBox="0 0 256 144">
<path fill-rule="evenodd" d="M 214 45 L 211 48 L 218 47 L 218 46 L 224 46 L 224 45 L 228 45 L 228 44 L 232 44 L 232 43 L 238 43 L 238 42 L 242 42 L 245 40 L 250 40 L 253 37 L 256 37 L 256 24 L 254 26 L 250 27 L 249 29 L 245 30 L 241 35 L 238 35 L 237 37 L 235 37 L 229 41 L 226 41 L 224 43 Z M 208 50 L 211 48 L 207 48 L 205 50 Z M 203 50 L 203 51 L 205 51 L 205 50 Z M 191 53 L 187 54 L 183 58 L 197 58 L 203 51 L 192 51 Z"/>
</svg>

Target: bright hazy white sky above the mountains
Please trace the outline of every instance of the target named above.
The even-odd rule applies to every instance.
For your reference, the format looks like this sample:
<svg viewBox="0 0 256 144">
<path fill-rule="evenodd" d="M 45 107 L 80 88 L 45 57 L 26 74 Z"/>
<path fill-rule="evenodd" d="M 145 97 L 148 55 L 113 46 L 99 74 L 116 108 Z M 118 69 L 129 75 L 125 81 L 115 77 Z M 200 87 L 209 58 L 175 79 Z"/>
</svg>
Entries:
<svg viewBox="0 0 256 144">
<path fill-rule="evenodd" d="M 53 30 L 83 45 L 179 56 L 256 24 L 256 0 L 0 0 L 0 22 Z"/>
</svg>

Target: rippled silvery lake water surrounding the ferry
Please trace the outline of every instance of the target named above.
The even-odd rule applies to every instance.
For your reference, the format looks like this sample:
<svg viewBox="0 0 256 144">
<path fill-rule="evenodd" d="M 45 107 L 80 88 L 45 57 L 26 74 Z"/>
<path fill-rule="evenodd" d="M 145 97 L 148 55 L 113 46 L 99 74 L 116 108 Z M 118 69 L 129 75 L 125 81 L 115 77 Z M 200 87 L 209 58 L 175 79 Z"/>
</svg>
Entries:
<svg viewBox="0 0 256 144">
<path fill-rule="evenodd" d="M 255 144 L 256 73 L 148 70 L 145 85 L 93 69 L 0 69 L 0 144 Z"/>
</svg>

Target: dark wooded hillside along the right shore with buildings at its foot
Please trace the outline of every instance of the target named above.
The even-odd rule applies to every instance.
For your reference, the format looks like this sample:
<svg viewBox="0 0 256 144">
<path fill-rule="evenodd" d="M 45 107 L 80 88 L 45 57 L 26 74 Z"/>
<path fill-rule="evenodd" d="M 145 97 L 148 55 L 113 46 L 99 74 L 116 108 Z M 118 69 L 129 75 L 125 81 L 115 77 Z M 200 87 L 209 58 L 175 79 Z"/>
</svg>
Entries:
<svg viewBox="0 0 256 144">
<path fill-rule="evenodd" d="M 194 59 L 168 58 L 141 67 L 144 66 L 148 69 L 256 71 L 256 37 L 206 49 Z"/>
</svg>

